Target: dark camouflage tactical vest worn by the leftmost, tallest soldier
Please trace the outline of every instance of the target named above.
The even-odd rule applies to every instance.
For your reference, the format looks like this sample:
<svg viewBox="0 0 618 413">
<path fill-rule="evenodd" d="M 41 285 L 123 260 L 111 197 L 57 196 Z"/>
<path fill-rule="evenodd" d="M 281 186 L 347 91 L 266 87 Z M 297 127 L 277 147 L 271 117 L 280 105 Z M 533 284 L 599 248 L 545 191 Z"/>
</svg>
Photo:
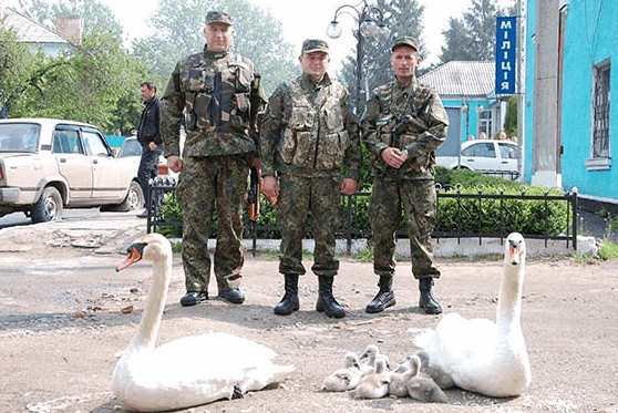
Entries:
<svg viewBox="0 0 618 413">
<path fill-rule="evenodd" d="M 181 74 L 187 131 L 249 133 L 253 63 L 236 54 L 212 60 L 189 58 Z"/>
</svg>

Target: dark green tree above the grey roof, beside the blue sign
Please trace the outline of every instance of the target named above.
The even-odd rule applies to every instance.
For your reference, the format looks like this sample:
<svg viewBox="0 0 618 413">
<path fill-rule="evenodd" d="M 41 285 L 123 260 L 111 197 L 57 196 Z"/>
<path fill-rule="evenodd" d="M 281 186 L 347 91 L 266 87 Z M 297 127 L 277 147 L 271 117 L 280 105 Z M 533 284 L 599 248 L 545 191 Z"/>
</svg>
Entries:
<svg viewBox="0 0 618 413">
<path fill-rule="evenodd" d="M 449 29 L 442 32 L 446 47 L 442 48 L 440 64 L 451 61 L 491 61 L 495 58 L 496 16 L 508 16 L 497 0 L 472 0 L 462 19 L 450 18 Z"/>
</svg>

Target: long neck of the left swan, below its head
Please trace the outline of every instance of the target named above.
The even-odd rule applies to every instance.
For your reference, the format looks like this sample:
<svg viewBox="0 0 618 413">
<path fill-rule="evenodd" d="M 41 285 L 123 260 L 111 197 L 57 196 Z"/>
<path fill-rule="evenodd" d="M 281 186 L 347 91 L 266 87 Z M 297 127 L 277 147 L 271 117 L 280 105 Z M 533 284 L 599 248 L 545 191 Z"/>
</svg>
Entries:
<svg viewBox="0 0 618 413">
<path fill-rule="evenodd" d="M 165 308 L 169 277 L 172 275 L 172 257 L 166 260 L 153 261 L 153 281 L 146 298 L 146 308 L 137 327 L 137 333 L 128 345 L 128 350 L 152 349 L 155 345 L 161 317 Z"/>
</svg>

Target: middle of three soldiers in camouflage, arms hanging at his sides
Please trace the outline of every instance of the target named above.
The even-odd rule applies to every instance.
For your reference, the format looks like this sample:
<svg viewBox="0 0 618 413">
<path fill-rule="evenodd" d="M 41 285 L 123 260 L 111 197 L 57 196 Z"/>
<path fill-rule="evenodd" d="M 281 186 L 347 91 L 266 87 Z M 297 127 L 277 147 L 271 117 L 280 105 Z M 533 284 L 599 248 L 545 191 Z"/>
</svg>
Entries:
<svg viewBox="0 0 618 413">
<path fill-rule="evenodd" d="M 275 313 L 298 310 L 298 277 L 305 275 L 302 238 L 307 217 L 312 220 L 316 249 L 311 270 L 318 276 L 317 311 L 342 318 L 346 311 L 332 296 L 339 269 L 334 229 L 340 218 L 340 193 L 357 189 L 361 166 L 359 126 L 346 87 L 331 81 L 329 48 L 306 40 L 299 58 L 302 75 L 275 91 L 260 127 L 262 192 L 277 199 L 281 230 L 279 272 L 285 296 Z M 348 175 L 341 180 L 341 167 Z M 278 178 L 278 182 L 277 182 Z"/>
</svg>

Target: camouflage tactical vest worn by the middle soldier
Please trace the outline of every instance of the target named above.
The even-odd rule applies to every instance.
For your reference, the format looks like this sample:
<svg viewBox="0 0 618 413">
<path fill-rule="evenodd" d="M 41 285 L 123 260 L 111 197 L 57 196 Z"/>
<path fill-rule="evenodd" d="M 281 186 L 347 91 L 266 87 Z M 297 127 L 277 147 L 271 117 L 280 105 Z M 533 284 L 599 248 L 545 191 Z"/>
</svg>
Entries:
<svg viewBox="0 0 618 413">
<path fill-rule="evenodd" d="M 288 86 L 291 114 L 279 146 L 282 161 L 302 168 L 340 168 L 350 145 L 342 113 L 346 89 L 332 82 L 320 90 L 316 102 L 311 102 L 298 81 Z"/>
</svg>

